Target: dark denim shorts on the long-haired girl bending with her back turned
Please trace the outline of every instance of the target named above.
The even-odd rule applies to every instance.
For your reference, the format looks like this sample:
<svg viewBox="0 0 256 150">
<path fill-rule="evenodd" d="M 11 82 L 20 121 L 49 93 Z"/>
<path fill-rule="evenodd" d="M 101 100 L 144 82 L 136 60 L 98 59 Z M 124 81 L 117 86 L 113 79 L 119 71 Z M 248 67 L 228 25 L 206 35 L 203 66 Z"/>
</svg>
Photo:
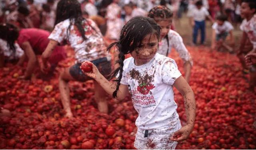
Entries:
<svg viewBox="0 0 256 150">
<path fill-rule="evenodd" d="M 100 73 L 107 77 L 111 73 L 111 62 L 107 57 L 99 58 L 91 61 L 100 71 Z M 91 80 L 92 78 L 86 76 L 84 72 L 80 69 L 81 63 L 76 63 L 69 69 L 70 75 L 77 81 L 85 82 L 86 80 Z"/>
</svg>

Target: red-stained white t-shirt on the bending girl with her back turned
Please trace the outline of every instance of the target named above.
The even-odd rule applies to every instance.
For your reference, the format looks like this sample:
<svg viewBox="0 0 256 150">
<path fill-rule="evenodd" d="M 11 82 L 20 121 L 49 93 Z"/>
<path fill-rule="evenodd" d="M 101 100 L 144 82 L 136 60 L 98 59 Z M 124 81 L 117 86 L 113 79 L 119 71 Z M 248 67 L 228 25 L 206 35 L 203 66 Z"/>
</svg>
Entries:
<svg viewBox="0 0 256 150">
<path fill-rule="evenodd" d="M 84 27 L 84 35 L 87 40 L 82 38 L 78 28 L 73 25 L 73 23 L 70 27 L 70 35 L 68 37 L 67 30 L 70 25 L 70 19 L 66 19 L 55 25 L 54 30 L 48 37 L 49 39 L 57 41 L 61 45 L 68 42 L 74 49 L 75 58 L 78 62 L 83 62 L 85 60 L 92 61 L 108 56 L 100 29 L 91 19 L 86 20 L 87 21 L 83 21 L 82 25 Z"/>
</svg>

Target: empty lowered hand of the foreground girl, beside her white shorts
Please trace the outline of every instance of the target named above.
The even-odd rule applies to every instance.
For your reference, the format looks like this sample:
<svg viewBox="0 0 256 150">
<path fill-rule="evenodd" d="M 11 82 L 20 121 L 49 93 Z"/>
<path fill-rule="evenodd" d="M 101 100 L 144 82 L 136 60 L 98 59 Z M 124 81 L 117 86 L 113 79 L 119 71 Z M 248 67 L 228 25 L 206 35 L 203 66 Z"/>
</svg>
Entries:
<svg viewBox="0 0 256 150">
<path fill-rule="evenodd" d="M 194 126 L 190 125 L 190 124 L 189 125 L 185 125 L 180 130 L 174 132 L 172 137 L 170 137 L 170 140 L 180 142 L 180 141 L 188 139 L 188 136 L 192 132 L 193 127 Z"/>
</svg>

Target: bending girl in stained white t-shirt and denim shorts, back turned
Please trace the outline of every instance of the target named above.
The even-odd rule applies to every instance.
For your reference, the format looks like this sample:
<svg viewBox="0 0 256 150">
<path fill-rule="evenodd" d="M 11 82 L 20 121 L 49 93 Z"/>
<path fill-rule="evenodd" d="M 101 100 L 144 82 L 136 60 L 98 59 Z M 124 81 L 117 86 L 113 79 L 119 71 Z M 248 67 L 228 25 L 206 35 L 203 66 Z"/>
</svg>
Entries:
<svg viewBox="0 0 256 150">
<path fill-rule="evenodd" d="M 85 60 L 92 61 L 98 66 L 100 72 L 106 76 L 111 72 L 111 56 L 106 51 L 100 29 L 94 21 L 82 17 L 81 6 L 77 0 L 60 0 L 58 2 L 54 24 L 54 30 L 48 37 L 50 43 L 42 54 L 42 70 L 47 68 L 47 59 L 58 44 L 64 45 L 68 43 L 74 49 L 76 64 L 65 68 L 64 71 L 60 72 L 59 77 L 62 105 L 66 111 L 66 117 L 72 117 L 68 82 L 70 80 L 80 82 L 92 80 L 92 78 L 82 73 L 79 68 L 81 66 L 80 62 Z M 94 99 L 98 104 L 99 111 L 108 113 L 104 90 L 98 82 L 94 82 L 94 88 Z"/>
</svg>

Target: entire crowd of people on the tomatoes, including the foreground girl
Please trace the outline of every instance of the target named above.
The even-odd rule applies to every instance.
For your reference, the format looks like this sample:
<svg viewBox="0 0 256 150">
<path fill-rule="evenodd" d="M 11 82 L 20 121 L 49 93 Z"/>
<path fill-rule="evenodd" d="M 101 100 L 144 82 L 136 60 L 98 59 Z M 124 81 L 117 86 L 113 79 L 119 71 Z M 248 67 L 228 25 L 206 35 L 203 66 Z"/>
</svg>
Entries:
<svg viewBox="0 0 256 150">
<path fill-rule="evenodd" d="M 66 58 L 64 45 L 69 45 L 76 62 L 59 76 L 66 117 L 73 117 L 68 87 L 71 80 L 94 79 L 94 99 L 102 113 L 108 113 L 103 95 L 123 99 L 130 93 L 139 113 L 135 139 L 139 149 L 146 148 L 145 137 L 152 130 L 159 137 L 155 148 L 162 148 L 160 141 L 172 134 L 172 142 L 164 140 L 164 144 L 174 149 L 177 141 L 188 138 L 194 126 L 196 103 L 189 86 L 193 60 L 174 25 L 184 12 L 193 27 L 193 44 L 198 45 L 198 30 L 200 44 L 204 44 L 206 21 L 211 21 L 212 49 L 236 53 L 243 72 L 250 73 L 250 90 L 256 86 L 255 0 L 1 0 L 0 7 L 0 66 L 27 61 L 26 71 L 19 78 L 30 80 L 36 65 L 43 73 L 53 72 Z M 236 51 L 232 31 L 241 21 L 243 36 Z M 184 78 L 176 62 L 168 57 L 172 48 L 184 62 Z M 36 55 L 41 55 L 39 64 Z M 125 59 L 128 55 L 132 57 Z M 80 69 L 84 61 L 93 63 L 92 72 Z M 184 127 L 176 112 L 173 86 L 184 96 L 188 118 Z M 149 104 L 136 103 L 138 96 L 145 95 L 153 97 Z"/>
</svg>

